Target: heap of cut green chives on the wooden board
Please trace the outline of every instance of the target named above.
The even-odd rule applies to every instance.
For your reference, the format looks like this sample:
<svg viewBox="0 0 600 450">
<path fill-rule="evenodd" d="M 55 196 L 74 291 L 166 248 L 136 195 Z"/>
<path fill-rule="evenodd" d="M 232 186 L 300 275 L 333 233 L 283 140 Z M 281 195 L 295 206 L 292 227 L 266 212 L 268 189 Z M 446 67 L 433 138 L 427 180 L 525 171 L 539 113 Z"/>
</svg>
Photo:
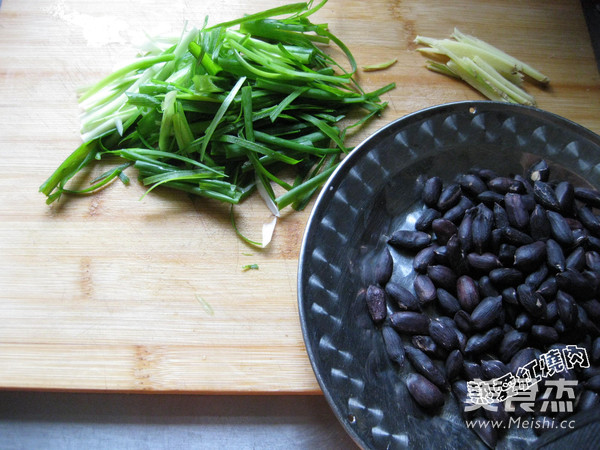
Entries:
<svg viewBox="0 0 600 450">
<path fill-rule="evenodd" d="M 210 27 L 206 21 L 156 40 L 83 91 L 83 143 L 40 186 L 47 203 L 94 193 L 117 178 L 127 183 L 124 170 L 133 166 L 148 187 L 144 196 L 168 187 L 233 207 L 258 191 L 275 215 L 288 205 L 304 208 L 351 150 L 346 131 L 380 114 L 387 106 L 380 96 L 395 87 L 361 88 L 350 49 L 326 24 L 310 20 L 326 1 Z M 329 56 L 329 45 L 346 61 Z M 89 187 L 68 187 L 100 159 L 117 162 Z M 284 193 L 276 197 L 273 183 Z M 242 239 L 263 246 L 241 235 L 233 209 L 231 222 Z"/>
</svg>

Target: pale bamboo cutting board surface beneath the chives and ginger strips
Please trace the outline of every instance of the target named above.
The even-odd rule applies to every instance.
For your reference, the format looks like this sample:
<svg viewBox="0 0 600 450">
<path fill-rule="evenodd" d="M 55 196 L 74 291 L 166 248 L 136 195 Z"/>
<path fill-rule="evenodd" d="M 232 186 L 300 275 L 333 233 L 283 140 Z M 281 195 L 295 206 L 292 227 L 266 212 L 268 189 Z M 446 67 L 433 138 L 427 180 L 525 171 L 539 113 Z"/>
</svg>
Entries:
<svg viewBox="0 0 600 450">
<path fill-rule="evenodd" d="M 52 207 L 39 185 L 79 144 L 76 89 L 127 62 L 144 32 L 178 34 L 275 0 L 4 0 L 0 6 L 0 388 L 318 393 L 298 320 L 296 272 L 310 207 L 286 213 L 268 249 L 241 242 L 228 208 L 115 183 Z M 456 26 L 547 73 L 539 107 L 600 133 L 600 79 L 577 1 L 330 0 L 327 22 L 385 114 L 357 143 L 418 109 L 481 99 L 424 68 L 417 34 Z M 260 238 L 260 200 L 237 208 Z M 256 263 L 259 270 L 242 271 Z"/>
</svg>

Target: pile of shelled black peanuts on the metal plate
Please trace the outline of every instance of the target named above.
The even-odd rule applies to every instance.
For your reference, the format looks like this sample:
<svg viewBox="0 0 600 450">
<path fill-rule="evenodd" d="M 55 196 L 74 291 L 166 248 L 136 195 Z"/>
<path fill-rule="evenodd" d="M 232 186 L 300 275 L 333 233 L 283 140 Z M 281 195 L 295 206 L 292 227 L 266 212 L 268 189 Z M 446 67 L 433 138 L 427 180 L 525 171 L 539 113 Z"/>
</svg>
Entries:
<svg viewBox="0 0 600 450">
<path fill-rule="evenodd" d="M 465 406 L 467 381 L 514 375 L 566 345 L 585 349 L 590 363 L 554 375 L 577 380 L 573 411 L 527 414 L 562 420 L 600 405 L 600 192 L 550 172 L 539 160 L 523 174 L 429 177 L 414 229 L 394 231 L 378 257 L 369 313 L 388 356 L 410 362 L 408 392 L 431 414 L 450 392 Z M 391 252 L 412 256 L 412 286 L 395 280 Z M 464 415 L 508 420 L 496 406 Z M 474 431 L 490 446 L 501 433 Z"/>
</svg>

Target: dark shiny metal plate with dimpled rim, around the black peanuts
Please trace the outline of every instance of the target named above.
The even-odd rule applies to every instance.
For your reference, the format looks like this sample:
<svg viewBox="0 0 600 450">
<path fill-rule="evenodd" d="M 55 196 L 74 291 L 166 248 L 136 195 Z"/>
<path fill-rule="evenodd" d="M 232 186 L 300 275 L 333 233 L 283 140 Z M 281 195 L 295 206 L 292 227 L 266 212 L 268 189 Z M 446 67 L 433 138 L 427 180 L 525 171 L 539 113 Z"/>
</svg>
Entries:
<svg viewBox="0 0 600 450">
<path fill-rule="evenodd" d="M 522 173 L 541 157 L 554 175 L 600 188 L 600 136 L 536 108 L 489 101 L 436 106 L 390 123 L 324 186 L 302 243 L 299 313 L 320 387 L 360 447 L 484 447 L 450 394 L 436 416 L 413 402 L 403 381 L 410 364 L 389 361 L 363 293 L 374 255 L 421 208 L 419 176 L 447 182 L 473 166 Z M 395 257 L 394 264 L 395 274 L 410 279 L 411 261 Z M 535 438 L 531 429 L 511 429 L 499 448 L 526 448 Z"/>
</svg>

